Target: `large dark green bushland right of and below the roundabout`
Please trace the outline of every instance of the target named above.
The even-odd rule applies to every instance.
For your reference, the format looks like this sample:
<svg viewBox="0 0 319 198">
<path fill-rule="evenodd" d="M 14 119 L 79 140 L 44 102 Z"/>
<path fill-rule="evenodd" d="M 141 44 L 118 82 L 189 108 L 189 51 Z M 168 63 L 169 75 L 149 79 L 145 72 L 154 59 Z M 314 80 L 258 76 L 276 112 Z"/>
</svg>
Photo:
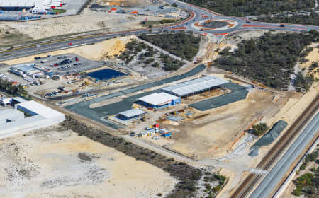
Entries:
<svg viewBox="0 0 319 198">
<path fill-rule="evenodd" d="M 242 40 L 235 52 L 223 52 L 215 65 L 266 86 L 286 89 L 301 52 L 318 37 L 315 30 L 304 34 L 268 32 L 257 39 Z M 299 90 L 307 88 L 309 80 L 300 81 L 299 77 L 295 86 L 300 87 Z"/>
</svg>

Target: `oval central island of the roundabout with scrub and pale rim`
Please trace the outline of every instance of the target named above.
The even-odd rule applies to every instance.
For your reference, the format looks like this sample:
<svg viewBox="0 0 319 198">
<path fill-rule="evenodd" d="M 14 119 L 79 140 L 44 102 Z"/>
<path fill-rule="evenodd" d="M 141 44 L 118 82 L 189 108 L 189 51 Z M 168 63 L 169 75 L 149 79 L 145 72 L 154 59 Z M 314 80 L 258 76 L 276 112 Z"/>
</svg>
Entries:
<svg viewBox="0 0 319 198">
<path fill-rule="evenodd" d="M 203 21 L 198 21 L 191 26 L 196 30 L 211 30 L 211 31 L 218 31 L 218 30 L 228 30 L 230 28 L 235 28 L 238 25 L 236 21 L 229 20 L 229 19 L 208 19 Z"/>
</svg>

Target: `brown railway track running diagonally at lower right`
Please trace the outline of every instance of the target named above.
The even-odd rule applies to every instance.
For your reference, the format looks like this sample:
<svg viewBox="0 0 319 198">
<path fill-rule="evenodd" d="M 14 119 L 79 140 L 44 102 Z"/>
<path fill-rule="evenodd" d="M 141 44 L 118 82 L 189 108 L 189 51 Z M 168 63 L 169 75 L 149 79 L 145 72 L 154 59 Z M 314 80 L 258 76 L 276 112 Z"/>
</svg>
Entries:
<svg viewBox="0 0 319 198">
<path fill-rule="evenodd" d="M 293 124 L 289 127 L 286 133 L 281 136 L 279 141 L 272 147 L 272 149 L 267 153 L 267 155 L 260 161 L 257 165 L 257 169 L 260 170 L 269 170 L 272 167 L 273 163 L 279 159 L 281 153 L 285 151 L 285 148 L 291 144 L 293 139 L 296 137 L 298 131 L 300 131 L 303 126 L 308 122 L 308 120 L 317 112 L 319 98 L 318 96 L 308 105 L 306 110 L 304 110 L 301 115 L 296 119 Z M 251 173 L 248 177 L 242 182 L 242 184 L 237 188 L 237 190 L 232 194 L 232 198 L 242 198 L 248 197 L 251 190 L 257 184 L 262 175 L 255 175 Z"/>
</svg>

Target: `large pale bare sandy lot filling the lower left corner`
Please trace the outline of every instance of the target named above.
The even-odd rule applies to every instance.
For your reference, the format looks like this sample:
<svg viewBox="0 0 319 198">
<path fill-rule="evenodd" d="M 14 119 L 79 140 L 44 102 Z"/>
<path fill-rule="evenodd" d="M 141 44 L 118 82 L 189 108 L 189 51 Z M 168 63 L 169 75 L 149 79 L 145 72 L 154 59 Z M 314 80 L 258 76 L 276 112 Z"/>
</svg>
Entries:
<svg viewBox="0 0 319 198">
<path fill-rule="evenodd" d="M 157 197 L 177 183 L 159 168 L 58 127 L 0 145 L 0 197 Z"/>
</svg>

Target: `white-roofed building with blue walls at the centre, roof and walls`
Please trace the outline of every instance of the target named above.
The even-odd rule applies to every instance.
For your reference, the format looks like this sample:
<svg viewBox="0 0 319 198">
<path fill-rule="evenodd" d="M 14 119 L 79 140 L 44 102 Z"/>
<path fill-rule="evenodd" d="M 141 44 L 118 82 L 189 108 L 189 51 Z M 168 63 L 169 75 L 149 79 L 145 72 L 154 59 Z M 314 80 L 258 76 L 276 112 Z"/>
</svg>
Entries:
<svg viewBox="0 0 319 198">
<path fill-rule="evenodd" d="M 169 93 L 152 93 L 142 98 L 138 98 L 138 104 L 149 108 L 164 108 L 170 105 L 181 103 L 181 98 Z"/>
</svg>

